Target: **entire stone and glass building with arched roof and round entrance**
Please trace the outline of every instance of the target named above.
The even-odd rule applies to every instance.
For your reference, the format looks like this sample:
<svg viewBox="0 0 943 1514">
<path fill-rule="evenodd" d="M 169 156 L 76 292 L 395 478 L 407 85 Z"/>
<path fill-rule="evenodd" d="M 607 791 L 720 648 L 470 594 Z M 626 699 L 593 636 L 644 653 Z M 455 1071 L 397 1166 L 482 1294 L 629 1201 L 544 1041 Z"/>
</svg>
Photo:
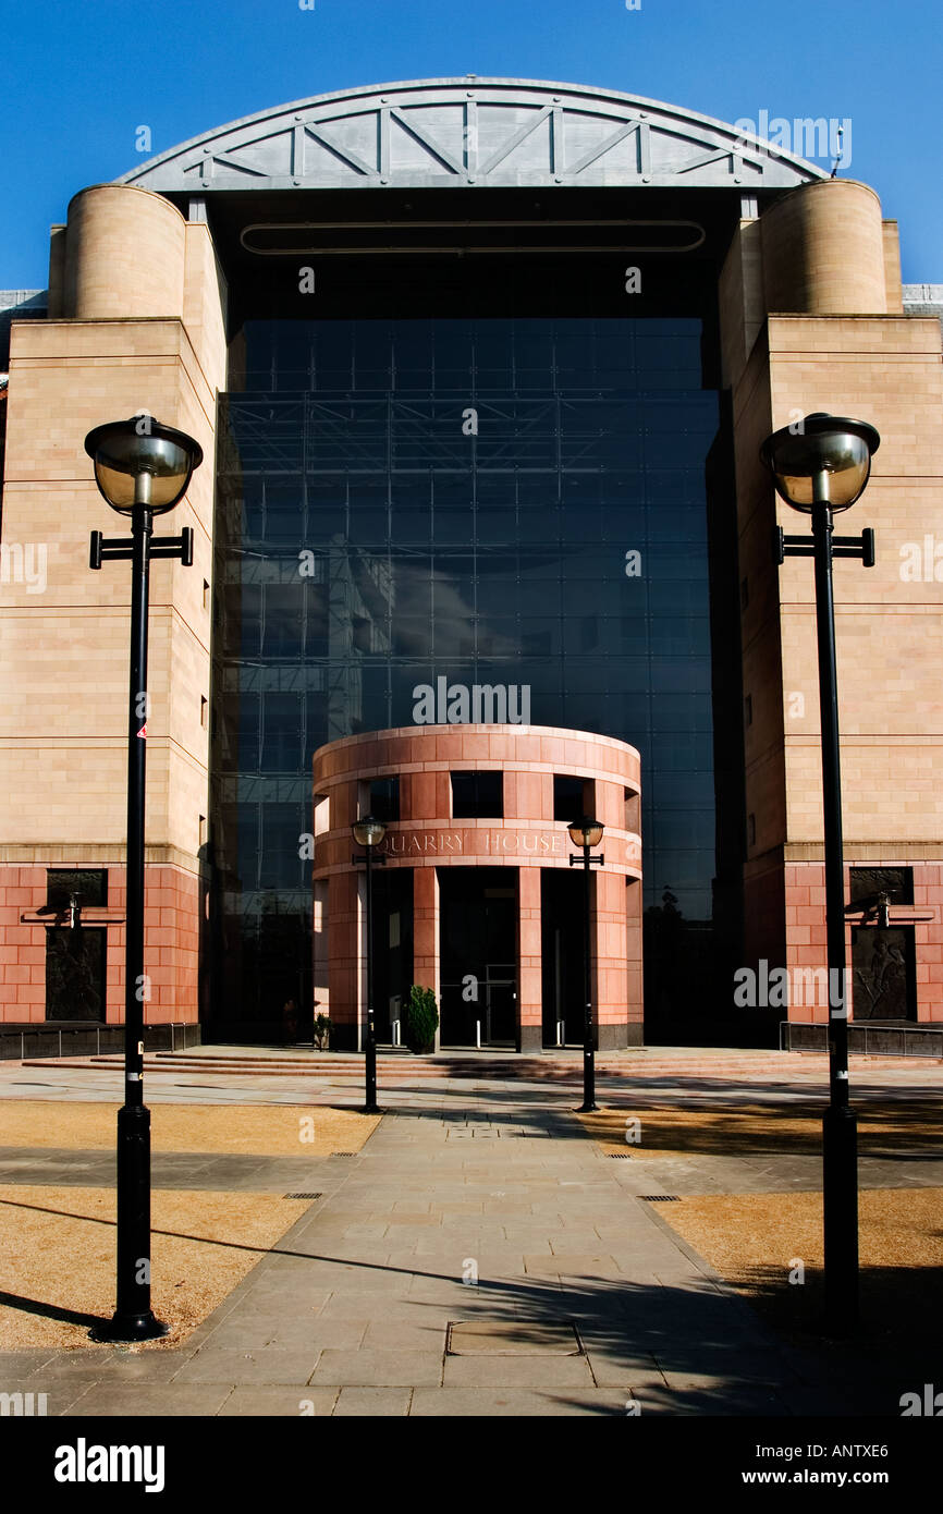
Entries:
<svg viewBox="0 0 943 1514">
<path fill-rule="evenodd" d="M 881 433 L 878 562 L 836 569 L 854 1017 L 943 1022 L 934 291 L 866 185 L 572 85 L 321 95 L 80 191 L 0 319 L 3 1023 L 123 1014 L 130 583 L 83 439 L 142 410 L 206 457 L 151 580 L 154 1042 L 359 1045 L 365 805 L 381 1034 L 415 981 L 443 1045 L 577 1039 L 574 808 L 601 1045 L 822 1026 L 811 568 L 758 462 L 813 410 Z"/>
</svg>

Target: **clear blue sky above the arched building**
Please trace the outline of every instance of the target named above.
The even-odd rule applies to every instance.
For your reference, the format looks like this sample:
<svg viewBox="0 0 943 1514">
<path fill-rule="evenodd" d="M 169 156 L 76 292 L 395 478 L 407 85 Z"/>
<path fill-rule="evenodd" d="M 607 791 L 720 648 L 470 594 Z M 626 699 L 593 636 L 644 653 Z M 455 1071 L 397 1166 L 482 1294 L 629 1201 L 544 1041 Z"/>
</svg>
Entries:
<svg viewBox="0 0 943 1514">
<path fill-rule="evenodd" d="M 156 154 L 286 100 L 469 73 L 849 118 L 843 173 L 901 221 L 905 282 L 943 282 L 940 0 L 0 0 L 0 288 L 45 286 L 50 224 L 141 164 L 139 126 Z"/>
</svg>

